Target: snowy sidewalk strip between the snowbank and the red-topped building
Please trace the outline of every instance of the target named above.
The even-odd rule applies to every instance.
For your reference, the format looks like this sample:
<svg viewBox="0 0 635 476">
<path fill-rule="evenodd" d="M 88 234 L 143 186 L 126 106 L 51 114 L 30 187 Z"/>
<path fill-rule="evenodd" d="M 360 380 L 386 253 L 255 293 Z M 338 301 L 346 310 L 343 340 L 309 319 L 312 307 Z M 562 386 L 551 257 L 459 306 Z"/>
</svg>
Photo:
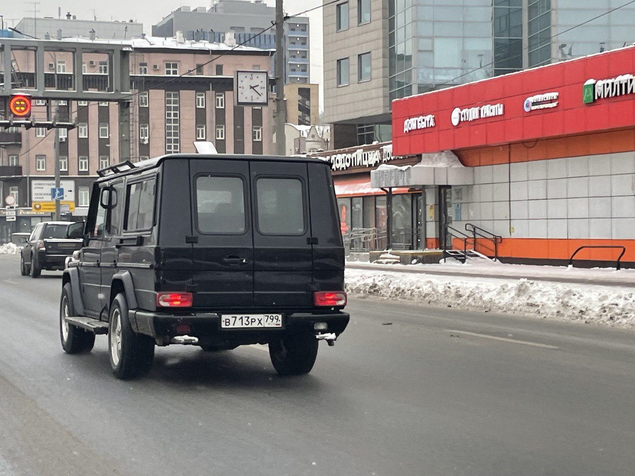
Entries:
<svg viewBox="0 0 635 476">
<path fill-rule="evenodd" d="M 347 261 L 350 269 L 391 271 L 411 274 L 441 276 L 483 277 L 492 279 L 521 279 L 533 281 L 570 282 L 635 288 L 635 269 L 615 268 L 567 268 L 538 265 L 509 265 L 495 261 L 473 260 L 465 264 L 380 265 Z"/>
</svg>

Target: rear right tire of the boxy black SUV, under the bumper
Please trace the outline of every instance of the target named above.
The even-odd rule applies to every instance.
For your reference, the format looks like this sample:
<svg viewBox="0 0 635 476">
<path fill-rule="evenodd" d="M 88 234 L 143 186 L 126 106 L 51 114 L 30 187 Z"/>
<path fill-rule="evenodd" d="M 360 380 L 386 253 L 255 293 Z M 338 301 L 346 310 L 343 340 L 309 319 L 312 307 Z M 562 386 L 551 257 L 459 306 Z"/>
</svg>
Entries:
<svg viewBox="0 0 635 476">
<path fill-rule="evenodd" d="M 269 343 L 271 363 L 280 375 L 311 372 L 318 357 L 318 340 L 313 334 L 290 334 Z"/>
</svg>

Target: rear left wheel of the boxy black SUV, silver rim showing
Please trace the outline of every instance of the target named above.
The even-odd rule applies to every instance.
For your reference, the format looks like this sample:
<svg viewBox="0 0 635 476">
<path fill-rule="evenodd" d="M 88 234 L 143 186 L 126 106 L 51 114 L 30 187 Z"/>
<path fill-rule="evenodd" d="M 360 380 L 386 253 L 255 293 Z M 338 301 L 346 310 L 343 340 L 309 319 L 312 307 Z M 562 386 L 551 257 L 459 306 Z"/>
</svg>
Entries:
<svg viewBox="0 0 635 476">
<path fill-rule="evenodd" d="M 122 380 L 146 375 L 154 360 L 154 340 L 132 330 L 128 302 L 121 293 L 110 306 L 108 351 L 112 373 Z"/>
</svg>

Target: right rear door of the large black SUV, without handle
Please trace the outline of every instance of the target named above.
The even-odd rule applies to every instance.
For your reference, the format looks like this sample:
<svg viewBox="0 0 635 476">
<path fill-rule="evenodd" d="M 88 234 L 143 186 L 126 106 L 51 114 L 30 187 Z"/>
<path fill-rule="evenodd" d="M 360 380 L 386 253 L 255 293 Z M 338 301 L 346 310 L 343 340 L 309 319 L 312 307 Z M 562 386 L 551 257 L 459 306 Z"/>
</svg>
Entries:
<svg viewBox="0 0 635 476">
<path fill-rule="evenodd" d="M 258 308 L 312 306 L 307 164 L 252 161 L 253 291 Z"/>
</svg>

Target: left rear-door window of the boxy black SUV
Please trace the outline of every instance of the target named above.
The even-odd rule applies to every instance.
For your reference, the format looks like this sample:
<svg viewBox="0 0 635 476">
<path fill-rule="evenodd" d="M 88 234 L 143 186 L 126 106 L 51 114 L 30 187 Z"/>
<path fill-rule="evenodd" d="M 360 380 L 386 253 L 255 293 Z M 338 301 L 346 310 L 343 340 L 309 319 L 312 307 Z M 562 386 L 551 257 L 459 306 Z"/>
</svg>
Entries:
<svg viewBox="0 0 635 476">
<path fill-rule="evenodd" d="M 242 234 L 246 230 L 244 185 L 239 177 L 197 178 L 196 207 L 202 233 Z"/>
</svg>

